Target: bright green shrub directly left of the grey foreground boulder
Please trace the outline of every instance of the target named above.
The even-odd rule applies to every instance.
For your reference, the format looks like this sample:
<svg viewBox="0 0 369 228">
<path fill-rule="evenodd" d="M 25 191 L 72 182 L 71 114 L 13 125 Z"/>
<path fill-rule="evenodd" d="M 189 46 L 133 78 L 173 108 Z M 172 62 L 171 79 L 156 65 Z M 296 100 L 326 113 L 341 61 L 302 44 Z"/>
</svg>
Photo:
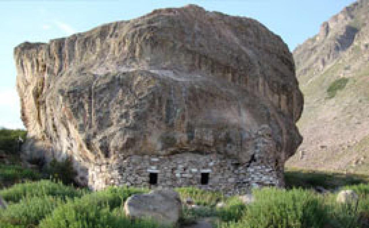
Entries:
<svg viewBox="0 0 369 228">
<path fill-rule="evenodd" d="M 100 192 L 86 194 L 79 199 L 68 200 L 66 204 L 55 208 L 52 214 L 46 216 L 40 222 L 39 228 L 118 227 L 119 221 L 122 222 L 121 220 L 125 221 L 126 219 L 117 218 L 110 211 L 113 208 L 120 207 L 132 194 L 144 192 L 147 192 L 147 190 L 110 187 Z M 124 226 L 121 225 L 120 227 Z"/>
</svg>

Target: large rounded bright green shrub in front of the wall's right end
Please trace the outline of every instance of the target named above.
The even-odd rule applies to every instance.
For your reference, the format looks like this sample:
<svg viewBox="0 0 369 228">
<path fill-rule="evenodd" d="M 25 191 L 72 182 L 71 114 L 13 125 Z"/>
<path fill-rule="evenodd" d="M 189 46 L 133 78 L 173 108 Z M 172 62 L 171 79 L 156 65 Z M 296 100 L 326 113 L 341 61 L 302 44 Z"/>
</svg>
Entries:
<svg viewBox="0 0 369 228">
<path fill-rule="evenodd" d="M 232 228 L 308 228 L 328 223 L 328 208 L 313 192 L 275 188 L 256 190 L 256 201 L 250 204 L 238 222 L 222 223 Z"/>
</svg>

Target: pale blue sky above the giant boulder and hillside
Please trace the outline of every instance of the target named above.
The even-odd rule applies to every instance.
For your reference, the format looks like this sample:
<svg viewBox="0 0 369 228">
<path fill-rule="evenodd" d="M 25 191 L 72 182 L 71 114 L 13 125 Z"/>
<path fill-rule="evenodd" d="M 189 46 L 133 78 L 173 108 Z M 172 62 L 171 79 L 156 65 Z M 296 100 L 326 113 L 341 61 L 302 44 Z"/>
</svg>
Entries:
<svg viewBox="0 0 369 228">
<path fill-rule="evenodd" d="M 21 42 L 48 42 L 103 23 L 129 20 L 155 8 L 191 3 L 206 10 L 254 18 L 280 35 L 293 50 L 297 44 L 315 35 L 323 21 L 352 2 L 354 0 L 0 0 L 0 126 L 23 128 L 13 61 L 13 48 Z"/>
</svg>

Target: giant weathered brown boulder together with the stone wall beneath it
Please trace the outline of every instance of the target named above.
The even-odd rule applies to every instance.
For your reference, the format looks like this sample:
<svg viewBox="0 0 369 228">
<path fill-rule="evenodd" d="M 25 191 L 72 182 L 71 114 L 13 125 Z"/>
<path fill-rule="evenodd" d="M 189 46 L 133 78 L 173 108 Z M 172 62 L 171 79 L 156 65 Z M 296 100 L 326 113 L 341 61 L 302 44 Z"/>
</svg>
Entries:
<svg viewBox="0 0 369 228">
<path fill-rule="evenodd" d="M 159 9 L 14 56 L 25 154 L 73 157 L 93 189 L 283 185 L 301 142 L 292 55 L 249 18 Z"/>
</svg>

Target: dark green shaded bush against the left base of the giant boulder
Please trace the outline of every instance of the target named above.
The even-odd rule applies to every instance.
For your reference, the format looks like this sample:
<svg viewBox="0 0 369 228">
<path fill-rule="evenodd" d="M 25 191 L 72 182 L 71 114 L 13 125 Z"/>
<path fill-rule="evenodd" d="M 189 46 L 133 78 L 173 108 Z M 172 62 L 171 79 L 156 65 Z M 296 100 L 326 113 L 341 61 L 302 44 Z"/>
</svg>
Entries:
<svg viewBox="0 0 369 228">
<path fill-rule="evenodd" d="M 53 159 L 43 170 L 51 179 L 61 180 L 65 185 L 75 184 L 77 172 L 73 167 L 72 159 L 67 158 L 64 161 Z"/>
</svg>

